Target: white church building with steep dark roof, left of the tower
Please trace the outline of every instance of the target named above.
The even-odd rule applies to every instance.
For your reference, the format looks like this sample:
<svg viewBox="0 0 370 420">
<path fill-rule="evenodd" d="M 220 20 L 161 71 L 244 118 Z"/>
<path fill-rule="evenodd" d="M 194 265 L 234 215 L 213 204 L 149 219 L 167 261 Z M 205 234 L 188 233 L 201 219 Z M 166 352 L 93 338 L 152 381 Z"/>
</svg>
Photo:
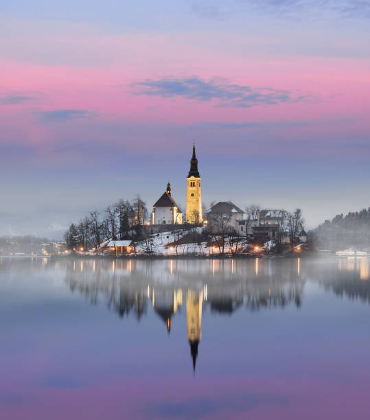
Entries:
<svg viewBox="0 0 370 420">
<path fill-rule="evenodd" d="M 153 206 L 152 224 L 183 224 L 183 212 L 171 196 L 170 183 Z"/>
</svg>

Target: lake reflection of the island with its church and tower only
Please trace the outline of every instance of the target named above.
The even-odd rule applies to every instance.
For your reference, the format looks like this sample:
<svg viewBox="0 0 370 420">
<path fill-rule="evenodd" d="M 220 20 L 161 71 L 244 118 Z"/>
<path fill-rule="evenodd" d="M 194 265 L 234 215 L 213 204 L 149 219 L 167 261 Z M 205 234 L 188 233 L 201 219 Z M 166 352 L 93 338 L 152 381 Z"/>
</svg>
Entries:
<svg viewBox="0 0 370 420">
<path fill-rule="evenodd" d="M 194 372 L 203 310 L 208 309 L 210 316 L 231 316 L 243 306 L 255 311 L 294 302 L 299 307 L 304 286 L 295 268 L 287 273 L 286 266 L 260 263 L 256 272 L 254 261 L 220 260 L 67 261 L 66 282 L 71 292 L 79 292 L 93 305 L 105 302 L 122 318 L 135 316 L 140 321 L 151 307 L 167 334 L 185 309 Z"/>
</svg>

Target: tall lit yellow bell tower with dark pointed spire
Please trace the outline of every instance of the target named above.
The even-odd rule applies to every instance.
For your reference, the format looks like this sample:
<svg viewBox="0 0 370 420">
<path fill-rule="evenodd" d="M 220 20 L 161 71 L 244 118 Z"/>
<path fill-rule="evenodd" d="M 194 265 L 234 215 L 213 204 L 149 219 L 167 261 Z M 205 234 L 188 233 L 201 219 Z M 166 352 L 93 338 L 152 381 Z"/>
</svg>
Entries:
<svg viewBox="0 0 370 420">
<path fill-rule="evenodd" d="M 186 189 L 186 222 L 190 224 L 197 224 L 203 221 L 200 180 L 201 178 L 198 172 L 198 159 L 196 159 L 194 144 L 193 156 L 190 161 L 190 170 L 187 175 Z"/>
</svg>

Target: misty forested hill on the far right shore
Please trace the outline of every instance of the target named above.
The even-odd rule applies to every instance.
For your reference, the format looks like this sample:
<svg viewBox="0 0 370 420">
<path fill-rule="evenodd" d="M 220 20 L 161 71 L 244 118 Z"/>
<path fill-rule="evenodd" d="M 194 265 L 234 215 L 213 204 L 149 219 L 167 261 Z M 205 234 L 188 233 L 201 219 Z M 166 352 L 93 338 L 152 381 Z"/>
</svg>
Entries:
<svg viewBox="0 0 370 420">
<path fill-rule="evenodd" d="M 325 220 L 312 231 L 314 244 L 319 248 L 370 250 L 370 207 L 361 211 L 338 214 Z"/>
</svg>

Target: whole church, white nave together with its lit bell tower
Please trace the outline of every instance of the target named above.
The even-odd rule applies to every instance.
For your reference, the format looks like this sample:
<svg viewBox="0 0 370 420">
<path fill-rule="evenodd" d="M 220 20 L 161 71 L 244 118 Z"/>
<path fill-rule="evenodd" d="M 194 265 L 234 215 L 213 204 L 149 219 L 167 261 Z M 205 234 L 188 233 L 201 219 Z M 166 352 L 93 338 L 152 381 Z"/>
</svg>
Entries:
<svg viewBox="0 0 370 420">
<path fill-rule="evenodd" d="M 186 218 L 179 209 L 171 194 L 171 185 L 167 184 L 165 193 L 155 202 L 152 211 L 152 224 L 199 224 L 203 222 L 202 195 L 200 188 L 200 174 L 198 171 L 198 159 L 196 159 L 195 144 L 193 145 L 190 170 L 187 175 L 186 189 Z"/>
</svg>

